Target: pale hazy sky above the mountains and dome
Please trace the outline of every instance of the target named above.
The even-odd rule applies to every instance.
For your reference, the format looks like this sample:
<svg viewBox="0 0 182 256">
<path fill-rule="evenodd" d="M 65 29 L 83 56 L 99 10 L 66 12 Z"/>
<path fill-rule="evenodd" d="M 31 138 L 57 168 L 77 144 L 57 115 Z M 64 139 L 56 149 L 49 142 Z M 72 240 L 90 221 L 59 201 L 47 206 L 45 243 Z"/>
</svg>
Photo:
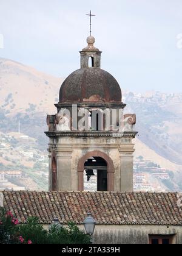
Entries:
<svg viewBox="0 0 182 256">
<path fill-rule="evenodd" d="M 0 57 L 68 76 L 87 45 L 90 9 L 102 68 L 121 88 L 182 91 L 181 0 L 0 0 Z"/>
</svg>

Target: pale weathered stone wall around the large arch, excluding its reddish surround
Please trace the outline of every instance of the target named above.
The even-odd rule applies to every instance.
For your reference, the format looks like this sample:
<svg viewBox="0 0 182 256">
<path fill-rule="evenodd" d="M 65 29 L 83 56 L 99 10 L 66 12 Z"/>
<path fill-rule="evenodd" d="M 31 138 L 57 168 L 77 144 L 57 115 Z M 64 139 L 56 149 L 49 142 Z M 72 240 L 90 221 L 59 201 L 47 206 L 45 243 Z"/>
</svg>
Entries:
<svg viewBox="0 0 182 256">
<path fill-rule="evenodd" d="M 49 144 L 49 174 L 51 177 L 51 152 L 57 163 L 58 190 L 78 191 L 78 163 L 81 157 L 99 151 L 111 158 L 114 166 L 114 190 L 133 191 L 132 138 L 107 137 L 55 137 Z M 94 155 L 93 155 L 94 157 Z M 49 179 L 49 188 L 51 179 Z"/>
</svg>

